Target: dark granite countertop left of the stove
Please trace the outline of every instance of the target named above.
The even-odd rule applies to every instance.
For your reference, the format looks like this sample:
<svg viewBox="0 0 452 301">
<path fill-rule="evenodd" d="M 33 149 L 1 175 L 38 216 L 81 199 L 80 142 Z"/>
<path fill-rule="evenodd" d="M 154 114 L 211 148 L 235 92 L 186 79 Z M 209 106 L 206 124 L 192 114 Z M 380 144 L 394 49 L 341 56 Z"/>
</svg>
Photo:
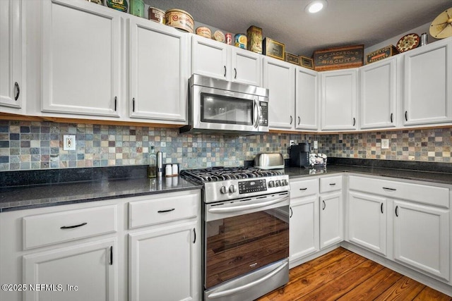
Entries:
<svg viewBox="0 0 452 301">
<path fill-rule="evenodd" d="M 201 189 L 201 185 L 172 178 L 105 179 L 0 188 L 0 212 L 39 207 L 136 197 L 165 192 Z"/>
</svg>

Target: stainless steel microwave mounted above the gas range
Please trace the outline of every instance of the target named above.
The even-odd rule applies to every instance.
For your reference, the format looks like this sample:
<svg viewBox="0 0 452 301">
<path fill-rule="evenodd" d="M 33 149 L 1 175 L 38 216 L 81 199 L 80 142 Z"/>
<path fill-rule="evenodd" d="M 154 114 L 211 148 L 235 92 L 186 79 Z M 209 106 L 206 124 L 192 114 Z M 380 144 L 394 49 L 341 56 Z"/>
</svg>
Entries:
<svg viewBox="0 0 452 301">
<path fill-rule="evenodd" d="M 268 133 L 268 89 L 194 74 L 189 80 L 189 125 L 180 133 Z"/>
</svg>

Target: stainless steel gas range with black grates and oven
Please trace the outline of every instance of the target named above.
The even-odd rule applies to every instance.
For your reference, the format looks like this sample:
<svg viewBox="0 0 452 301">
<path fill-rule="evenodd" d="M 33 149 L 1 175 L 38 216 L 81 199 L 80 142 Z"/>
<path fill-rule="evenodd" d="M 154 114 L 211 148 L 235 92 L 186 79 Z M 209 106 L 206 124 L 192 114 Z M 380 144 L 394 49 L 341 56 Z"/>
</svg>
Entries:
<svg viewBox="0 0 452 301">
<path fill-rule="evenodd" d="M 255 300 L 287 283 L 289 176 L 252 167 L 181 174 L 203 184 L 204 300 Z"/>
</svg>

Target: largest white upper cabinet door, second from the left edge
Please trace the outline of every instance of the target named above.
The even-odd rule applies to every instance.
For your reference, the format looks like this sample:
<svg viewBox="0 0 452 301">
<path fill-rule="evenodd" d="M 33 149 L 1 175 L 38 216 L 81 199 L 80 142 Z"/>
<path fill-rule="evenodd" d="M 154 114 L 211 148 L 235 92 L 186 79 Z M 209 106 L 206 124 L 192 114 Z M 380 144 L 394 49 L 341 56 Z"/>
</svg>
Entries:
<svg viewBox="0 0 452 301">
<path fill-rule="evenodd" d="M 86 1 L 42 1 L 42 111 L 119 116 L 120 16 Z"/>
</svg>

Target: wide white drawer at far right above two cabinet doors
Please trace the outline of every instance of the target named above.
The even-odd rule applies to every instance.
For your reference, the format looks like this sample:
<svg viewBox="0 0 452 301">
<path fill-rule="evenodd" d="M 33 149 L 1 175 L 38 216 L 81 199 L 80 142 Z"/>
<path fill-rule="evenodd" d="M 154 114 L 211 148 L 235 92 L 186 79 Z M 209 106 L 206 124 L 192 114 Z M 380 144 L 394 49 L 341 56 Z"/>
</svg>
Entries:
<svg viewBox="0 0 452 301">
<path fill-rule="evenodd" d="M 350 176 L 349 188 L 350 190 L 369 192 L 396 199 L 449 207 L 448 188 L 359 176 Z"/>
</svg>

